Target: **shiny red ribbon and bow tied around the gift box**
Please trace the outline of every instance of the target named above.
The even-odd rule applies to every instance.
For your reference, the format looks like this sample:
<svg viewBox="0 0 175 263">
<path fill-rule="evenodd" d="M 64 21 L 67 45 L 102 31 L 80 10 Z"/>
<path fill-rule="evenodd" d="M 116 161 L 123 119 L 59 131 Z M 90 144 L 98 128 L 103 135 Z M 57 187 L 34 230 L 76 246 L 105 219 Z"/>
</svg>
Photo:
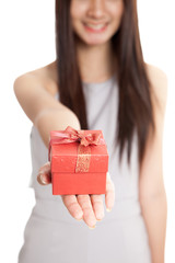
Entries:
<svg viewBox="0 0 175 263">
<path fill-rule="evenodd" d="M 78 161 L 75 172 L 88 172 L 90 168 L 91 148 L 90 145 L 105 145 L 105 140 L 101 137 L 101 134 L 89 133 L 84 130 L 77 130 L 68 126 L 66 130 L 52 132 L 49 142 L 48 160 L 50 161 L 51 145 L 80 142 L 78 148 Z"/>
</svg>

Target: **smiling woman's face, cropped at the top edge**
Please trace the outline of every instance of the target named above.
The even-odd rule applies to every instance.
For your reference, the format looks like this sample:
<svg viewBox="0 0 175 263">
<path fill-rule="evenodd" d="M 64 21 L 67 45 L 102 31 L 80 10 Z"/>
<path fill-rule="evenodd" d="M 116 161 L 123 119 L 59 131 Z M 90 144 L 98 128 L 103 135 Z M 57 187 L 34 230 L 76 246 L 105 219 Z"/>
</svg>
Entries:
<svg viewBox="0 0 175 263">
<path fill-rule="evenodd" d="M 71 0 L 74 33 L 88 45 L 101 45 L 118 31 L 124 0 Z"/>
</svg>

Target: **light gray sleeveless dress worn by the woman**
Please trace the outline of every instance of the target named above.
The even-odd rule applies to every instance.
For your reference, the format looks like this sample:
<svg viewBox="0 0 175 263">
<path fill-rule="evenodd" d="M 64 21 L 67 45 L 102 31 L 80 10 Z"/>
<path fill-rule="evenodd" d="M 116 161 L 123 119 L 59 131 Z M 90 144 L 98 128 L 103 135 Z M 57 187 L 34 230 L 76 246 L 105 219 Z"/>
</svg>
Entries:
<svg viewBox="0 0 175 263">
<path fill-rule="evenodd" d="M 138 201 L 138 142 L 135 136 L 130 167 L 127 152 L 119 165 L 115 148 L 118 84 L 113 77 L 103 83 L 83 83 L 88 122 L 91 129 L 102 129 L 109 153 L 109 173 L 115 184 L 115 205 L 90 230 L 75 220 L 54 196 L 51 184 L 37 183 L 38 169 L 47 161 L 48 150 L 35 126 L 31 132 L 32 180 L 36 204 L 24 231 L 19 263 L 151 263 L 148 232 Z M 59 99 L 57 94 L 56 100 Z M 105 195 L 103 195 L 104 208 Z"/>
</svg>

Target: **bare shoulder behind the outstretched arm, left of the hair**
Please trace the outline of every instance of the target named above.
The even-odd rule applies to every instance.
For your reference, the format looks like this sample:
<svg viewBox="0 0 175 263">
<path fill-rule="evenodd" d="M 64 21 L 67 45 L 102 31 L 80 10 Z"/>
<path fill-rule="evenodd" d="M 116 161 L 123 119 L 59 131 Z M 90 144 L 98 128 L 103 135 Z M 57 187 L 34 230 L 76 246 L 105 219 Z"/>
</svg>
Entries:
<svg viewBox="0 0 175 263">
<path fill-rule="evenodd" d="M 37 68 L 19 76 L 13 83 L 14 92 L 18 92 L 21 87 L 26 84 L 28 85 L 28 83 L 42 87 L 55 96 L 58 92 L 56 62 L 51 62 L 42 68 Z"/>
</svg>

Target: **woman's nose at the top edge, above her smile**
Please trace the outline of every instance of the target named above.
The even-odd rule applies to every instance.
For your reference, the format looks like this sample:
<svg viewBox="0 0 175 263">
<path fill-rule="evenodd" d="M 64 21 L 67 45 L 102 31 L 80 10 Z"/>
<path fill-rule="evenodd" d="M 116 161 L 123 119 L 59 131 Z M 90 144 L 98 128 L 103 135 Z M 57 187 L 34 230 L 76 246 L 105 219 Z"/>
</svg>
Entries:
<svg viewBox="0 0 175 263">
<path fill-rule="evenodd" d="M 104 0 L 90 0 L 90 8 L 88 14 L 93 19 L 101 19 L 105 13 Z"/>
</svg>

